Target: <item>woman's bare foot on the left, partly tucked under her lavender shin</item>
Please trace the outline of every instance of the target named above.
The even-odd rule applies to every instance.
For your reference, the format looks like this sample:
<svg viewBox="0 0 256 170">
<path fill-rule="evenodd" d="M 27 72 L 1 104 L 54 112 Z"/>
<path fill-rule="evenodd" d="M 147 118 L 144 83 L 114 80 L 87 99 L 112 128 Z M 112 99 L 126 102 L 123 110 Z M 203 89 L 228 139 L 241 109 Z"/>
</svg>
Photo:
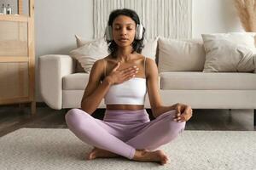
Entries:
<svg viewBox="0 0 256 170">
<path fill-rule="evenodd" d="M 90 151 L 90 153 L 88 154 L 87 156 L 87 160 L 93 160 L 93 159 L 96 159 L 96 158 L 110 158 L 110 157 L 119 157 L 119 155 L 117 154 L 114 154 L 108 150 L 102 150 L 102 149 L 99 149 L 99 148 L 94 148 L 93 150 Z"/>
</svg>

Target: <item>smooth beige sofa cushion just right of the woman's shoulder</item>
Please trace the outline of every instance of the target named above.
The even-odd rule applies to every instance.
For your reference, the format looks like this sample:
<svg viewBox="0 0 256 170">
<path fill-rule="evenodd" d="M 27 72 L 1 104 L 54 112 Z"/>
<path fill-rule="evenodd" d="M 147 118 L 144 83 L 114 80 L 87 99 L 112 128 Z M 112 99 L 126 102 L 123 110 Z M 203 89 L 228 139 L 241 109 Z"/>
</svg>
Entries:
<svg viewBox="0 0 256 170">
<path fill-rule="evenodd" d="M 201 40 L 176 40 L 159 38 L 160 72 L 164 71 L 202 71 L 205 50 Z"/>
</svg>

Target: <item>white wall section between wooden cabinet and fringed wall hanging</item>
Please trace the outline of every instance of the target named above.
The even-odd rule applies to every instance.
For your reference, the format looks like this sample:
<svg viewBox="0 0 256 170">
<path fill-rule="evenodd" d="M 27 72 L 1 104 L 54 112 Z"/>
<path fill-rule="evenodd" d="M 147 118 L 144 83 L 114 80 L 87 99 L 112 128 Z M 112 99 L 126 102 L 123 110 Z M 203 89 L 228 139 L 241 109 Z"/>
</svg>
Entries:
<svg viewBox="0 0 256 170">
<path fill-rule="evenodd" d="M 85 39 L 93 35 L 93 0 L 35 0 L 36 99 L 38 57 L 44 54 L 68 54 L 75 48 L 74 34 Z"/>
</svg>

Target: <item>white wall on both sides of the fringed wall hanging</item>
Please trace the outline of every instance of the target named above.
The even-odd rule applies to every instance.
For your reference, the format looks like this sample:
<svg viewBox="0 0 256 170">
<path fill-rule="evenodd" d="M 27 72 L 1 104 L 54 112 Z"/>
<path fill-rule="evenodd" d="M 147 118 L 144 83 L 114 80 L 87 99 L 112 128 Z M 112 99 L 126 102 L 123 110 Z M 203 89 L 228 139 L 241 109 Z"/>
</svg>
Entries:
<svg viewBox="0 0 256 170">
<path fill-rule="evenodd" d="M 192 1 L 192 37 L 242 31 L 233 0 Z M 35 34 L 36 64 L 40 55 L 68 54 L 75 48 L 74 34 L 84 39 L 93 37 L 93 0 L 35 0 Z M 38 84 L 36 88 L 37 101 L 42 101 Z"/>
</svg>

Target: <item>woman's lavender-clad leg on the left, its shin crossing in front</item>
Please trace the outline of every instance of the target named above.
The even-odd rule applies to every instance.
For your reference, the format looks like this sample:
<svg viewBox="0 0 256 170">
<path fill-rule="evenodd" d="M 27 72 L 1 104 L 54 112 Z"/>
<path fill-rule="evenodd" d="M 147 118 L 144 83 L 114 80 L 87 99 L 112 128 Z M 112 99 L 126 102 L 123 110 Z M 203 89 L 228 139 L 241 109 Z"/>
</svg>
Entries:
<svg viewBox="0 0 256 170">
<path fill-rule="evenodd" d="M 102 150 L 109 150 L 120 156 L 131 159 L 135 154 L 135 149 L 125 144 L 122 140 L 113 136 L 108 131 L 111 127 L 102 127 L 99 122 L 88 113 L 79 109 L 73 109 L 67 112 L 66 122 L 69 129 L 86 144 L 90 144 Z"/>
</svg>

